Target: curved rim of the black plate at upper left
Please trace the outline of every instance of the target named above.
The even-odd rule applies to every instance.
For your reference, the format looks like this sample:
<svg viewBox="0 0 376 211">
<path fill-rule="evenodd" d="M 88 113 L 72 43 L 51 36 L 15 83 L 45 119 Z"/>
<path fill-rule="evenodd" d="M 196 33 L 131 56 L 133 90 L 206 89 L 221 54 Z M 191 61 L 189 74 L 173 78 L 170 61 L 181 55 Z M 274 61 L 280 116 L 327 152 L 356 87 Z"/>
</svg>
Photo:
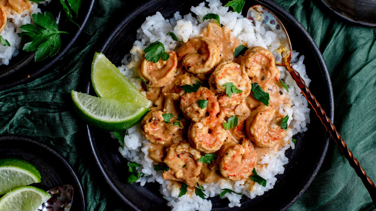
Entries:
<svg viewBox="0 0 376 211">
<path fill-rule="evenodd" d="M 80 26 L 80 29 L 74 34 L 73 38 L 70 41 L 68 41 L 68 45 L 65 46 L 65 48 L 63 50 L 59 51 L 55 56 L 53 56 L 52 60 L 50 62 L 48 62 L 47 65 L 42 66 L 37 71 L 33 72 L 32 74 L 29 74 L 30 77 L 25 77 L 25 78 L 22 78 L 22 79 L 19 79 L 19 78 L 12 79 L 12 78 L 10 78 L 10 80 L 8 82 L 0 84 L 0 90 L 4 90 L 4 89 L 10 88 L 10 87 L 14 87 L 14 86 L 17 86 L 19 84 L 23 84 L 23 83 L 26 83 L 28 81 L 31 81 L 31 80 L 33 80 L 35 78 L 38 78 L 39 76 L 42 75 L 42 73 L 44 71 L 46 71 L 47 69 L 49 69 L 59 59 L 61 59 L 61 57 L 64 56 L 65 53 L 67 53 L 67 51 L 73 46 L 73 44 L 77 41 L 77 39 L 79 38 L 79 36 L 83 32 L 83 30 L 85 29 L 86 24 L 88 23 L 88 21 L 90 19 L 92 10 L 94 9 L 94 5 L 95 5 L 95 3 L 96 3 L 97 0 L 90 0 L 90 1 L 91 2 L 89 4 L 89 8 L 88 8 L 88 10 L 86 12 L 85 17 L 83 18 L 83 21 L 82 21 L 82 24 Z M 16 72 L 9 72 L 8 74 L 6 74 L 3 77 L 1 77 L 0 79 L 3 80 L 4 78 L 12 77 L 12 76 L 14 76 L 14 74 L 16 74 Z M 16 80 L 16 81 L 14 81 L 14 80 Z"/>
</svg>

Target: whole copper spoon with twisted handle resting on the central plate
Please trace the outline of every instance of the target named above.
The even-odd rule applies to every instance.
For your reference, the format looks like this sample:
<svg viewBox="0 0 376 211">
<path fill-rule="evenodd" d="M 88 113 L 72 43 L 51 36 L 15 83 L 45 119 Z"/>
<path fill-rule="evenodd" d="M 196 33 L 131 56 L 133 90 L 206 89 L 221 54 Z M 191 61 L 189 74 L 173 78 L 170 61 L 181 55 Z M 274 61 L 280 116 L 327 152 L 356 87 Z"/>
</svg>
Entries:
<svg viewBox="0 0 376 211">
<path fill-rule="evenodd" d="M 376 205 L 376 187 L 373 181 L 367 176 L 367 173 L 365 173 L 365 170 L 359 164 L 359 161 L 356 160 L 350 149 L 347 147 L 346 142 L 341 138 L 340 133 L 338 133 L 338 131 L 335 129 L 335 126 L 330 121 L 329 117 L 326 116 L 326 112 L 321 107 L 320 103 L 316 100 L 315 96 L 312 95 L 302 77 L 300 77 L 299 72 L 294 70 L 293 66 L 291 65 L 292 47 L 285 26 L 282 24 L 279 18 L 273 14 L 273 12 L 270 12 L 261 5 L 254 5 L 249 8 L 247 18 L 253 22 L 260 21 L 266 30 L 270 30 L 277 34 L 281 45 L 277 50 L 272 52 L 273 56 L 275 57 L 276 65 L 284 66 L 290 73 L 291 77 L 296 81 L 296 84 L 299 86 L 300 90 L 302 90 L 302 93 L 307 101 L 312 105 L 312 108 L 315 110 L 318 118 L 320 118 L 326 130 L 332 135 L 335 143 L 337 143 L 337 146 L 340 148 L 344 157 L 349 161 L 350 166 L 353 167 L 356 174 L 362 179 L 362 182 L 365 188 L 367 188 L 373 203 Z"/>
</svg>

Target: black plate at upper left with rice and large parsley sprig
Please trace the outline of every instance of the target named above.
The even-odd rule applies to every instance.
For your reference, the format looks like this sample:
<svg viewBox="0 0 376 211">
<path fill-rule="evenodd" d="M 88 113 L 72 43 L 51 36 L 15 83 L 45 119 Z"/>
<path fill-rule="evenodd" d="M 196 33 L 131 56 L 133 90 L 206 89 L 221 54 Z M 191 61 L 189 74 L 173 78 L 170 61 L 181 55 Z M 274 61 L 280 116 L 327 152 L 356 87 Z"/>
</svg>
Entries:
<svg viewBox="0 0 376 211">
<path fill-rule="evenodd" d="M 59 1 L 53 0 L 47 6 L 39 5 L 42 12 L 51 12 L 59 24 L 59 30 L 69 32 L 69 35 L 61 35 L 60 50 L 55 56 L 47 57 L 40 62 L 34 62 L 35 54 L 23 51 L 21 47 L 20 53 L 9 60 L 9 65 L 0 65 L 0 90 L 35 79 L 58 61 L 79 38 L 89 20 L 95 2 L 96 0 L 82 1 L 78 19 L 75 21 L 80 28 L 65 21 L 65 13 L 61 9 Z"/>
</svg>

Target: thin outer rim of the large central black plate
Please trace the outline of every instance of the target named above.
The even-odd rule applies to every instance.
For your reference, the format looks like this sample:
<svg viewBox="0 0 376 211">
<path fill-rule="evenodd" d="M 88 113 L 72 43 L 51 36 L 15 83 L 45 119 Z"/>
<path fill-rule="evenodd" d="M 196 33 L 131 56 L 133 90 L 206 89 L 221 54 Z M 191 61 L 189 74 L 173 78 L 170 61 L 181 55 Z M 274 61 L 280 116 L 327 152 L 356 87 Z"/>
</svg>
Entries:
<svg viewBox="0 0 376 211">
<path fill-rule="evenodd" d="M 144 8 L 145 6 L 151 5 L 152 2 L 156 2 L 156 1 L 158 1 L 158 0 L 149 0 L 146 3 L 144 3 L 143 5 L 141 5 L 138 8 L 136 8 L 133 12 L 131 12 L 130 14 L 128 14 L 114 28 L 114 30 L 111 31 L 111 33 L 108 36 L 108 38 L 105 39 L 105 43 L 99 48 L 99 52 L 103 52 L 107 48 L 107 46 L 109 44 L 109 41 L 111 41 L 117 35 L 117 33 L 121 30 L 121 28 L 124 26 L 124 24 L 129 21 L 128 19 L 131 19 L 132 17 L 134 17 L 135 14 L 137 14 L 138 12 L 143 11 L 142 8 Z M 328 71 L 328 69 L 326 67 L 324 58 L 323 58 L 323 56 L 321 54 L 321 51 L 317 47 L 315 41 L 312 39 L 311 35 L 309 35 L 308 31 L 303 27 L 303 25 L 300 24 L 299 21 L 296 20 L 295 17 L 293 17 L 293 15 L 291 15 L 289 12 L 287 12 L 281 6 L 277 5 L 276 3 L 272 2 L 271 0 L 256 0 L 256 1 L 265 4 L 266 6 L 268 6 L 270 8 L 273 8 L 275 11 L 278 11 L 280 15 L 286 17 L 289 21 L 292 22 L 293 25 L 295 25 L 297 28 L 300 29 L 300 32 L 302 33 L 302 35 L 304 36 L 304 38 L 309 42 L 309 44 L 311 44 L 311 47 L 312 47 L 311 50 L 314 51 L 314 53 L 317 55 L 318 65 L 321 67 L 321 70 L 323 71 L 322 73 L 323 73 L 324 80 L 327 81 L 326 89 L 328 90 L 328 93 L 327 93 L 328 96 L 327 96 L 327 98 L 328 98 L 328 104 L 329 104 L 329 112 L 327 112 L 326 114 L 329 116 L 329 118 L 331 119 L 331 121 L 334 122 L 334 95 L 333 95 L 333 87 L 332 87 L 332 83 L 331 83 L 331 78 L 330 78 L 330 75 L 329 75 L 329 71 Z M 89 93 L 90 86 L 91 86 L 91 80 L 88 78 L 88 80 L 86 81 L 85 93 Z M 113 191 L 115 191 L 115 193 L 124 202 L 126 202 L 128 205 L 130 205 L 133 209 L 135 209 L 137 211 L 143 211 L 143 210 L 139 209 L 135 204 L 133 204 L 132 202 L 130 202 L 127 199 L 127 197 L 125 197 L 121 193 L 121 191 L 119 190 L 119 188 L 115 185 L 115 183 L 108 176 L 105 168 L 103 167 L 103 163 L 102 163 L 102 161 L 100 159 L 100 155 L 99 155 L 99 153 L 98 153 L 98 151 L 96 149 L 96 145 L 94 143 L 93 137 L 91 136 L 90 128 L 89 128 L 88 124 L 86 124 L 86 129 L 87 129 L 87 134 L 86 135 L 88 136 L 90 147 L 91 147 L 91 150 L 93 152 L 92 155 L 93 155 L 93 157 L 94 157 L 94 159 L 95 159 L 95 161 L 96 161 L 96 163 L 97 163 L 97 165 L 99 167 L 100 172 L 102 173 L 102 176 L 105 178 L 106 182 L 109 184 L 109 186 L 111 187 L 111 189 Z M 320 170 L 320 167 L 321 167 L 321 165 L 322 165 L 322 163 L 324 161 L 327 149 L 329 147 L 329 139 L 330 138 L 331 138 L 331 135 L 326 132 L 325 141 L 324 141 L 323 149 L 322 149 L 322 152 L 321 152 L 320 160 L 315 165 L 315 167 L 314 167 L 311 175 L 308 177 L 306 183 L 301 187 L 301 190 L 293 197 L 293 199 L 290 202 L 286 203 L 284 205 L 284 207 L 282 207 L 280 209 L 281 211 L 285 211 L 291 205 L 293 205 L 296 202 L 296 200 L 299 199 L 299 197 L 302 196 L 302 194 L 307 190 L 308 186 L 312 183 L 313 179 L 317 175 L 317 173 Z"/>
</svg>

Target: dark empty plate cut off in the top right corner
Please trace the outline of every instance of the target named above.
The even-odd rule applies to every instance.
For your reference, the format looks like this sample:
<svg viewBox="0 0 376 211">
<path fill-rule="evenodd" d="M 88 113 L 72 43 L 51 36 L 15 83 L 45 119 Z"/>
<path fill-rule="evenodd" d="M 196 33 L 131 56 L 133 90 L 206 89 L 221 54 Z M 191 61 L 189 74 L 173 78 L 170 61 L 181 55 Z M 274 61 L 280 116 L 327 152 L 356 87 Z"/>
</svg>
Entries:
<svg viewBox="0 0 376 211">
<path fill-rule="evenodd" d="M 374 0 L 321 0 L 336 15 L 352 23 L 376 27 Z"/>
</svg>

